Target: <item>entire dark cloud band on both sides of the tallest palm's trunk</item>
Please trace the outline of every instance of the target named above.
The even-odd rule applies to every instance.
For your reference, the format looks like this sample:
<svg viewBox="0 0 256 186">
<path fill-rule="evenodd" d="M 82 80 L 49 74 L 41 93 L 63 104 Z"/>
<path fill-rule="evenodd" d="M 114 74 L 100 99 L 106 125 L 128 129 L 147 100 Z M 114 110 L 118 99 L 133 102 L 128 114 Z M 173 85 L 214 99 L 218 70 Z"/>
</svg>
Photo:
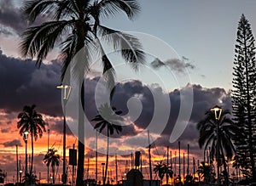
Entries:
<svg viewBox="0 0 256 186">
<path fill-rule="evenodd" d="M 40 69 L 37 69 L 35 62 L 32 60 L 10 58 L 1 52 L 0 64 L 0 83 L 3 86 L 3 91 L 0 92 L 0 109 L 9 113 L 9 121 L 16 117 L 11 113 L 20 112 L 26 104 L 37 104 L 37 110 L 40 113 L 62 116 L 61 91 L 55 87 L 60 83 L 61 65 L 59 63 L 42 65 Z M 89 121 L 97 114 L 95 89 L 98 81 L 99 77 L 85 80 L 85 115 Z M 186 97 L 186 88 L 188 87 L 192 88 L 194 93 L 193 110 L 190 120 L 184 121 L 188 123 L 188 126 L 179 140 L 183 142 L 184 148 L 185 144 L 190 144 L 191 149 L 199 150 L 197 145 L 198 132 L 195 126 L 203 118 L 205 111 L 220 103 L 222 103 L 221 106 L 224 109 L 231 110 L 230 92 L 227 93 L 223 88 L 206 88 L 201 85 L 188 84 L 187 87 L 164 93 L 160 87 L 147 86 L 139 81 L 119 83 L 115 88 L 112 105 L 117 110 L 122 110 L 122 115 L 125 116 L 131 111 L 128 109 L 127 103 L 131 98 L 135 98 L 141 102 L 143 110 L 134 124 L 123 127 L 123 131 L 120 134 L 114 134 L 113 138 L 125 138 L 124 143 L 127 144 L 136 143 L 129 140 L 129 138 L 137 135 L 140 132 L 139 130 L 148 127 L 152 120 L 155 111 L 152 94 L 152 91 L 154 91 L 159 95 L 166 95 L 171 101 L 171 111 L 166 127 L 161 134 L 161 138 L 158 138 L 155 143 L 160 147 L 175 146 L 176 144 L 169 143 L 169 138 L 180 111 L 181 91 L 184 93 L 183 96 Z M 94 126 L 95 123 L 91 123 L 91 125 Z M 156 123 L 155 127 L 159 125 L 162 125 L 162 123 Z M 57 133 L 62 133 L 63 121 L 57 121 L 49 127 Z M 8 131 L 8 127 L 2 129 L 2 132 Z M 72 132 L 67 129 L 67 134 L 72 134 Z"/>
</svg>

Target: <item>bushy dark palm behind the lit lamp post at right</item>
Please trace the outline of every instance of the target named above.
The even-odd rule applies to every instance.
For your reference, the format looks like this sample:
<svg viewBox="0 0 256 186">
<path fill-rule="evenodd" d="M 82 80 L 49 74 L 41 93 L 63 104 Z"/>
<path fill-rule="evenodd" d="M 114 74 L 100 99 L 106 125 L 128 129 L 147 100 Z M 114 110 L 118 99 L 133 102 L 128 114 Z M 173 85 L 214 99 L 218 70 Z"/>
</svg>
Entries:
<svg viewBox="0 0 256 186">
<path fill-rule="evenodd" d="M 230 160 L 234 155 L 233 139 L 238 134 L 237 127 L 227 117 L 228 115 L 230 115 L 230 111 L 224 110 L 218 121 L 216 121 L 214 112 L 207 110 L 206 117 L 197 123 L 197 129 L 200 132 L 199 146 L 200 148 L 205 146 L 204 150 L 207 150 L 207 147 L 211 146 L 211 160 L 215 158 L 218 166 L 221 162 L 224 164 L 226 184 L 228 184 L 228 175 L 225 156 Z M 219 144 L 219 148 L 217 148 L 217 144 Z M 219 149 L 219 152 L 217 152 L 217 149 Z M 218 155 L 221 155 L 221 158 L 217 160 Z"/>
</svg>

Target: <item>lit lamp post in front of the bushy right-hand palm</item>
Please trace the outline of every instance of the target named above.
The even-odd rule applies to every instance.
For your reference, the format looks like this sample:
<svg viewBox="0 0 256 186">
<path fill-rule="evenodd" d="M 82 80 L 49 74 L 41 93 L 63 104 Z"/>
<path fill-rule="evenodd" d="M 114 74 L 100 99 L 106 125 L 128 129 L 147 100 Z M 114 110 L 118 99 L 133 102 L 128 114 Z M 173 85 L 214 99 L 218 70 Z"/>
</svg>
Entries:
<svg viewBox="0 0 256 186">
<path fill-rule="evenodd" d="M 219 118 L 221 116 L 221 112 L 222 112 L 222 109 L 216 105 L 214 106 L 211 111 L 214 112 L 214 116 L 215 116 L 215 121 L 216 121 L 216 124 L 217 124 L 217 155 L 216 155 L 216 159 L 217 159 L 217 183 L 219 185 Z"/>
</svg>

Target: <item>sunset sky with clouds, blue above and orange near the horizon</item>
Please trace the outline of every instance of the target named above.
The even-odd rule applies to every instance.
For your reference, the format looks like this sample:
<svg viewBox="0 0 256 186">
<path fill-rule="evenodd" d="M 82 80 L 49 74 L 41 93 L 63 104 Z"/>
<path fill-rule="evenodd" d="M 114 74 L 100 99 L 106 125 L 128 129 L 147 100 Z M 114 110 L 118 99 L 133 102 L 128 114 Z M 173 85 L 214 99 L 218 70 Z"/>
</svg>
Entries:
<svg viewBox="0 0 256 186">
<path fill-rule="evenodd" d="M 16 144 L 23 164 L 25 160 L 25 144 L 16 128 L 18 113 L 24 105 L 37 105 L 36 109 L 49 123 L 50 146 L 62 153 L 61 91 L 55 88 L 60 84 L 61 63 L 56 60 L 56 51 L 49 54 L 40 69 L 35 67 L 32 59 L 20 56 L 20 34 L 27 26 L 26 20 L 20 16 L 22 2 L 0 0 L 0 157 L 3 160 L 0 168 L 8 172 L 9 181 L 15 176 Z M 125 160 L 131 149 L 147 146 L 148 137 L 144 129 L 151 126 L 150 140 L 156 146 L 153 150 L 154 163 L 160 157 L 164 158 L 167 145 L 172 153 L 177 151 L 178 140 L 183 151 L 189 144 L 191 155 L 201 159 L 196 123 L 206 110 L 216 104 L 231 110 L 230 89 L 237 23 L 241 14 L 245 14 L 253 31 L 256 30 L 256 2 L 140 0 L 139 3 L 142 11 L 133 21 L 122 14 L 102 21 L 104 25 L 139 37 L 149 56 L 147 64 L 137 73 L 122 62 L 114 62 L 119 83 L 113 105 L 124 112 L 125 121 L 131 121 L 131 124 L 124 127 L 121 137 L 114 134 L 110 151 L 118 153 L 121 169 L 125 169 Z M 44 18 L 37 20 L 36 24 L 42 21 Z M 85 116 L 90 121 L 96 116 L 95 94 L 100 82 L 99 73 L 92 73 L 85 82 Z M 74 93 L 73 90 L 72 96 Z M 67 118 L 70 127 L 67 149 L 77 142 L 73 134 L 76 131 L 73 109 L 73 106 L 67 108 L 70 114 Z M 137 116 L 137 113 L 140 115 Z M 89 128 L 93 125 L 89 123 Z M 184 131 L 179 132 L 181 135 L 170 143 L 170 136 L 175 136 L 172 132 L 177 126 L 184 128 Z M 43 138 L 38 138 L 35 143 L 35 167 L 37 173 L 42 172 L 42 179 L 45 179 L 46 166 L 42 160 L 47 150 L 47 138 L 45 132 Z M 85 141 L 88 146 L 85 157 L 90 157 L 93 164 L 95 137 L 90 133 Z M 99 139 L 100 161 L 104 161 L 105 150 L 102 135 Z M 146 149 L 141 150 L 146 159 Z M 113 165 L 113 155 L 111 162 Z"/>
</svg>

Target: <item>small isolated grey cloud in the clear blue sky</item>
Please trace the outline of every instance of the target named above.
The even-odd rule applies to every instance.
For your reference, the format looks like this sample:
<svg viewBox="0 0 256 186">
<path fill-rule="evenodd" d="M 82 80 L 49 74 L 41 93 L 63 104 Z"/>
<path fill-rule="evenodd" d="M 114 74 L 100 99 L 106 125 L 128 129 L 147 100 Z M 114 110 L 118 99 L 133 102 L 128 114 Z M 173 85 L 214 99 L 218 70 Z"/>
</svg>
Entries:
<svg viewBox="0 0 256 186">
<path fill-rule="evenodd" d="M 154 59 L 153 62 L 151 62 L 151 65 L 158 69 L 162 66 L 168 66 L 171 68 L 171 70 L 177 71 L 177 73 L 186 73 L 186 69 L 194 70 L 195 65 L 188 62 L 189 59 L 186 57 L 182 57 L 182 59 L 167 59 L 166 61 L 161 61 L 160 59 Z"/>
</svg>

